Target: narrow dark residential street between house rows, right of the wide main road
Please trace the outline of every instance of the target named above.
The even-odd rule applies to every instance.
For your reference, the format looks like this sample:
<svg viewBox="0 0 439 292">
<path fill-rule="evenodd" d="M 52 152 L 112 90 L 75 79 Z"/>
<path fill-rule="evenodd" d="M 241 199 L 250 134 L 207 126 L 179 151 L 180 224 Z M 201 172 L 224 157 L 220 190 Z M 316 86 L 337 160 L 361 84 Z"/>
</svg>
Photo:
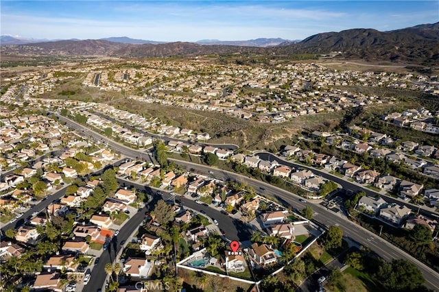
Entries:
<svg viewBox="0 0 439 292">
<path fill-rule="evenodd" d="M 383 195 L 383 194 L 377 193 L 375 191 L 372 191 L 370 188 L 364 188 L 362 186 L 358 186 L 357 184 L 353 184 L 351 182 L 343 180 L 342 178 L 339 178 L 337 175 L 331 175 L 330 173 L 327 173 L 324 171 L 319 171 L 318 169 L 314 169 L 312 167 L 306 167 L 304 165 L 299 165 L 298 163 L 285 161 L 285 160 L 278 158 L 277 156 L 275 156 L 269 152 L 258 152 L 255 155 L 259 156 L 259 158 L 261 158 L 262 160 L 270 160 L 270 161 L 275 160 L 278 163 L 280 163 L 282 165 L 287 165 L 289 167 L 296 167 L 296 168 L 299 167 L 301 169 L 309 169 L 309 170 L 313 171 L 313 173 L 316 173 L 317 175 L 320 175 L 323 178 L 327 178 L 328 180 L 332 180 L 333 182 L 337 182 L 337 184 L 340 184 L 345 190 L 352 190 L 354 193 L 359 192 L 359 191 L 364 191 L 366 193 L 366 195 L 368 195 L 370 197 L 375 197 L 376 195 L 379 195 L 381 197 L 384 197 L 385 201 L 387 201 L 388 203 L 396 203 L 399 205 L 407 206 L 407 208 L 410 208 L 413 212 L 418 212 L 418 209 L 419 209 L 420 214 L 423 214 L 426 216 L 429 216 L 431 214 L 438 215 L 437 212 L 431 212 L 431 210 L 427 210 L 423 206 L 417 206 L 417 205 L 411 204 L 409 202 L 404 202 L 404 201 L 401 201 L 399 199 L 395 199 L 394 197 L 390 197 L 389 195 Z"/>
</svg>

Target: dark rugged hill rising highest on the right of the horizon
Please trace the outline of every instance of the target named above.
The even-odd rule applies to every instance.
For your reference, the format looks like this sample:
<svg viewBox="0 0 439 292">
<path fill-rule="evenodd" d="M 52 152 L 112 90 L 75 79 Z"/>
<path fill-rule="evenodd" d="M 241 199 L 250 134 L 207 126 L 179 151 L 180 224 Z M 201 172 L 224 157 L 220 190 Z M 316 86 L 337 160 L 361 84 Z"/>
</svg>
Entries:
<svg viewBox="0 0 439 292">
<path fill-rule="evenodd" d="M 369 61 L 414 62 L 434 64 L 439 60 L 439 23 L 416 25 L 389 32 L 376 29 L 347 29 L 342 32 L 315 34 L 279 48 L 283 53 L 342 52 L 344 58 Z"/>
</svg>

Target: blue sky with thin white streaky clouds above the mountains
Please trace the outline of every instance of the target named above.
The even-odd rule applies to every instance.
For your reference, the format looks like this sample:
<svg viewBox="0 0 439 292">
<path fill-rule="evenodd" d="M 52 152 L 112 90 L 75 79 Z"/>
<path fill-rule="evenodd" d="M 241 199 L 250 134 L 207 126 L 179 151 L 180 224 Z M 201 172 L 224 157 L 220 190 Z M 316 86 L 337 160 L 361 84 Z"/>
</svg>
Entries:
<svg viewBox="0 0 439 292">
<path fill-rule="evenodd" d="M 68 39 L 128 36 L 195 41 L 303 39 L 439 21 L 438 1 L 8 1 L 1 34 Z"/>
</svg>

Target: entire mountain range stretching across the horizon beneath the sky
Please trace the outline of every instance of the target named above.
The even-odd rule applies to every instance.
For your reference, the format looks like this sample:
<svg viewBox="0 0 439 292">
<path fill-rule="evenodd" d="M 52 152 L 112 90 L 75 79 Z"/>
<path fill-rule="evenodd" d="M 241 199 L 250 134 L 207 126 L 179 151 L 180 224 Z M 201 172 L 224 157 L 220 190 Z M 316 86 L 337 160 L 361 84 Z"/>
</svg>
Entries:
<svg viewBox="0 0 439 292">
<path fill-rule="evenodd" d="M 5 41 L 12 41 L 5 39 Z M 2 44 L 3 36 L 1 38 Z M 439 23 L 416 25 L 404 29 L 379 32 L 376 29 L 347 29 L 309 36 L 300 42 L 281 38 L 256 40 L 200 40 L 193 42 L 155 42 L 127 37 L 101 40 L 56 40 L 29 45 L 2 45 L 5 55 L 27 56 L 202 56 L 230 53 L 293 55 L 312 53 L 327 55 L 339 52 L 340 58 L 361 58 L 368 61 L 411 62 L 436 65 L 439 61 Z"/>
</svg>

